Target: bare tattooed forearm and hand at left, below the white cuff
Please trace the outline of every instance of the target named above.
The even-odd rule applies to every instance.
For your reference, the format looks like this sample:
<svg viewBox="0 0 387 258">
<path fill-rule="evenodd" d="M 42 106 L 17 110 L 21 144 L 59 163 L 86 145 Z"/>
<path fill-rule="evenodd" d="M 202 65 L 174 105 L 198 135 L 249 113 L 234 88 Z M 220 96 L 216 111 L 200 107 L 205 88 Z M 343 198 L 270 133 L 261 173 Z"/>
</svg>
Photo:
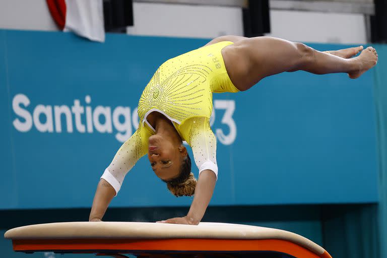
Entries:
<svg viewBox="0 0 387 258">
<path fill-rule="evenodd" d="M 101 221 L 105 215 L 106 209 L 110 201 L 116 195 L 113 186 L 111 186 L 105 179 L 101 178 L 95 191 L 93 206 L 89 216 L 89 221 Z"/>
</svg>

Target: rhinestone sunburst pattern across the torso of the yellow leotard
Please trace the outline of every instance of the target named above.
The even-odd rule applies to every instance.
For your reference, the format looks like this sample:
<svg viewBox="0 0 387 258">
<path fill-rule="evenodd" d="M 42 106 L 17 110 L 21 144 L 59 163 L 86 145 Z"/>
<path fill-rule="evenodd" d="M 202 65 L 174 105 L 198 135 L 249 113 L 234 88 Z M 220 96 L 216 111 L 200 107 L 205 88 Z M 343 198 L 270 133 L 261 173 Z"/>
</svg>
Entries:
<svg viewBox="0 0 387 258">
<path fill-rule="evenodd" d="M 201 64 L 187 65 L 167 77 L 161 66 L 148 83 L 139 101 L 142 120 L 149 110 L 156 108 L 178 121 L 192 116 L 210 116 L 212 92 L 208 77 L 211 68 Z M 203 103 L 206 102 L 206 103 Z M 202 107 L 206 107 L 204 110 Z"/>
</svg>

